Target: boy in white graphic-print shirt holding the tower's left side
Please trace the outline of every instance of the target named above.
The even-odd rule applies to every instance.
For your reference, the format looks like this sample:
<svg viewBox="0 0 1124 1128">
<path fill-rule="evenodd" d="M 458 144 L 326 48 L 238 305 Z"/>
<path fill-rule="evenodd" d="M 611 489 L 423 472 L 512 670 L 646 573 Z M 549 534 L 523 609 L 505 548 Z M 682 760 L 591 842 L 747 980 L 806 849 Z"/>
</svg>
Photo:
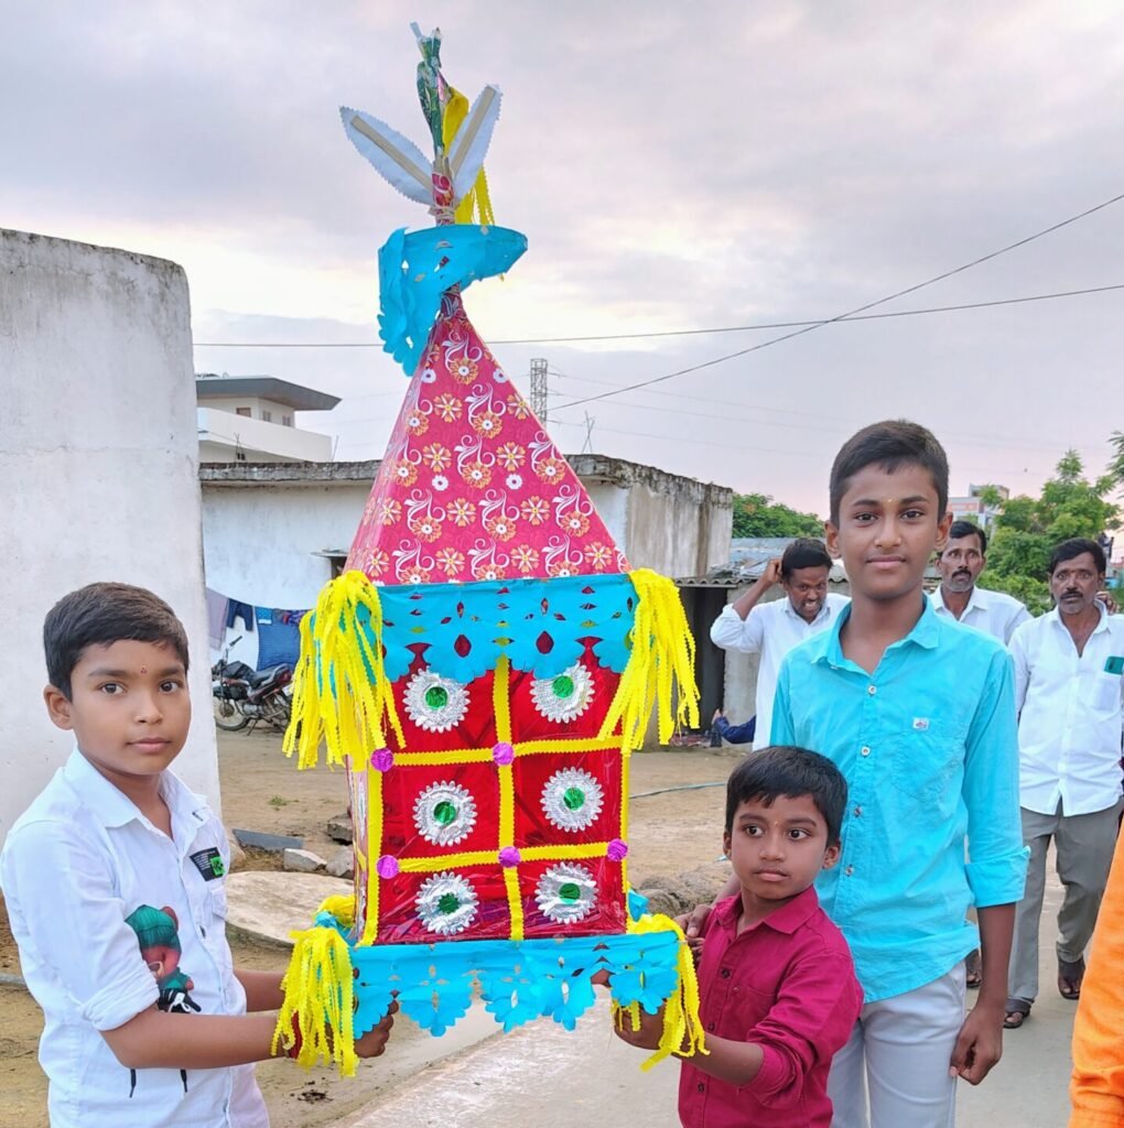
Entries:
<svg viewBox="0 0 1124 1128">
<path fill-rule="evenodd" d="M 266 1126 L 249 1063 L 273 1056 L 258 1012 L 281 975 L 231 967 L 226 834 L 169 770 L 191 722 L 183 626 L 150 591 L 95 583 L 43 641 L 47 714 L 76 749 L 9 832 L 0 883 L 52 1128 Z M 381 1054 L 392 1024 L 357 1052 Z"/>
</svg>

